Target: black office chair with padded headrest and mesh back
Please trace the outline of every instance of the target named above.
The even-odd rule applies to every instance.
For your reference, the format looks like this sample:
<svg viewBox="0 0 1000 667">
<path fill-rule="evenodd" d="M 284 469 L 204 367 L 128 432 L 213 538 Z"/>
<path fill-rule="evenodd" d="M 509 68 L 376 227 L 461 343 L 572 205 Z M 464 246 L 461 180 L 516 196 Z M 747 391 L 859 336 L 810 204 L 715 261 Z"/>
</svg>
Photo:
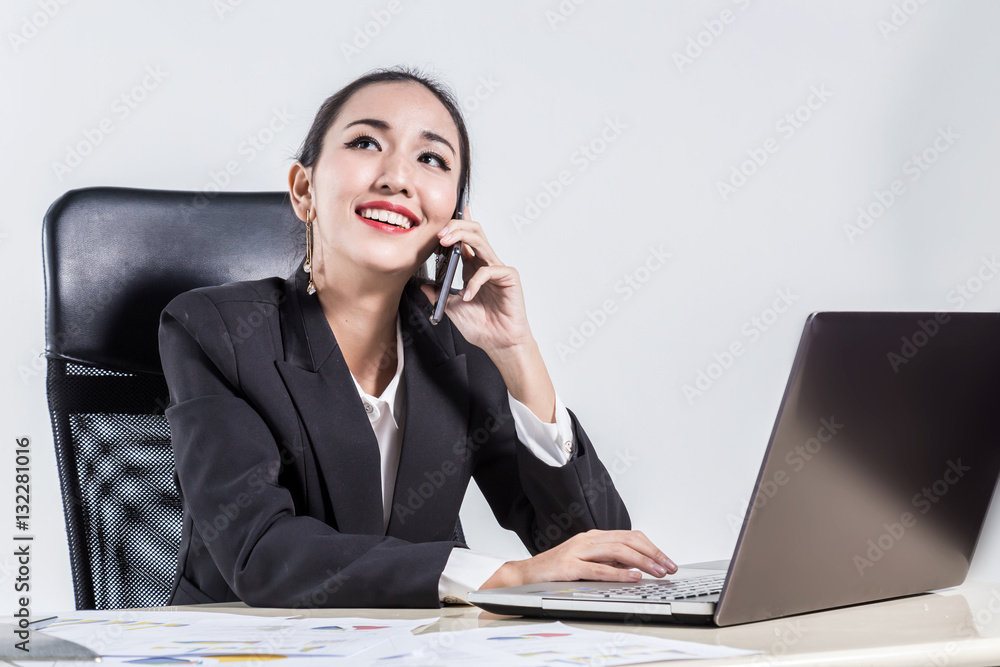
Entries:
<svg viewBox="0 0 1000 667">
<path fill-rule="evenodd" d="M 46 392 L 78 609 L 167 603 L 181 501 L 160 311 L 195 287 L 291 274 L 304 236 L 287 196 L 91 187 L 46 212 Z"/>
</svg>

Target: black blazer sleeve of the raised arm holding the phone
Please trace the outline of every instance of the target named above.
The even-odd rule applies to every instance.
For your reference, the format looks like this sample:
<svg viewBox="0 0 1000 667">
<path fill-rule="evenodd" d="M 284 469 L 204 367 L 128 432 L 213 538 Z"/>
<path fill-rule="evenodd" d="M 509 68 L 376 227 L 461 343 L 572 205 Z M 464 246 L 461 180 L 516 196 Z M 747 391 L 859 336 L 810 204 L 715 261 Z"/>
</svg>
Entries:
<svg viewBox="0 0 1000 667">
<path fill-rule="evenodd" d="M 485 352 L 469 348 L 481 364 L 476 375 L 495 388 L 480 404 L 489 406 L 486 411 L 472 418 L 470 446 L 476 450 L 473 477 L 500 525 L 514 531 L 532 556 L 587 530 L 631 529 L 625 503 L 573 411 L 567 408 L 573 456 L 565 465 L 549 465 L 518 439 L 500 371 Z M 489 437 L 479 445 L 477 433 Z"/>
</svg>

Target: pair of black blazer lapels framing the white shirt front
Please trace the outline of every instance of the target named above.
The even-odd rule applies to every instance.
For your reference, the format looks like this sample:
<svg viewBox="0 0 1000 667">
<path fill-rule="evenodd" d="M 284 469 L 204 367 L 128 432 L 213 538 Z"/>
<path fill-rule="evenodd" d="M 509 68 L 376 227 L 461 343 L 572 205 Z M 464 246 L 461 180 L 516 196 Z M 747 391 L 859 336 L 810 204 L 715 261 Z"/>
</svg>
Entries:
<svg viewBox="0 0 1000 667">
<path fill-rule="evenodd" d="M 282 304 L 285 359 L 276 360 L 305 424 L 337 529 L 383 534 L 381 454 L 350 369 L 300 265 Z M 385 534 L 413 542 L 450 540 L 465 495 L 463 459 L 469 414 L 464 354 L 450 327 L 434 327 L 430 303 L 408 284 L 400 299 L 406 408 L 393 511 Z M 442 463 L 452 467 L 443 468 Z"/>
</svg>

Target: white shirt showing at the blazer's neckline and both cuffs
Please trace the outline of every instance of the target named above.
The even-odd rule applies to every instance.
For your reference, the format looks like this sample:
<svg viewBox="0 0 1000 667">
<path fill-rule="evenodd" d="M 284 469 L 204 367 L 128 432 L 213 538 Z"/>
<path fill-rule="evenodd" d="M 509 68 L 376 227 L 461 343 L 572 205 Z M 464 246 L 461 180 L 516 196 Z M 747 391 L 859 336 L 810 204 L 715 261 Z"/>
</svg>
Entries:
<svg viewBox="0 0 1000 667">
<path fill-rule="evenodd" d="M 361 402 L 375 431 L 382 466 L 382 528 L 389 525 L 392 511 L 392 491 L 399 467 L 399 449 L 406 421 L 406 386 L 403 375 L 403 336 L 399 315 L 396 315 L 396 374 L 381 396 L 365 392 L 354 375 Z M 569 412 L 556 394 L 556 421 L 547 424 L 526 405 L 507 392 L 514 429 L 518 439 L 532 454 L 550 466 L 562 466 L 573 454 L 573 425 Z M 467 602 L 469 591 L 479 590 L 506 561 L 470 549 L 452 549 L 438 583 L 438 597 L 444 602 Z"/>
</svg>

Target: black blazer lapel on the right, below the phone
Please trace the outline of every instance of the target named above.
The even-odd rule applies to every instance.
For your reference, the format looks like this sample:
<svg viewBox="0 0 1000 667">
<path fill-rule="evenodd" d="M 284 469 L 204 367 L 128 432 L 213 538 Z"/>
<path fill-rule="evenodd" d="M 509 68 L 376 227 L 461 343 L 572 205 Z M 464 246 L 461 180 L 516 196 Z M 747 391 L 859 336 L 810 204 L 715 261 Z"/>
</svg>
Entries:
<svg viewBox="0 0 1000 667">
<path fill-rule="evenodd" d="M 412 542 L 450 540 L 465 496 L 469 414 L 464 354 L 447 324 L 432 326 L 430 302 L 408 284 L 400 302 L 406 418 L 387 535 Z M 443 466 L 450 462 L 450 466 Z"/>
</svg>

